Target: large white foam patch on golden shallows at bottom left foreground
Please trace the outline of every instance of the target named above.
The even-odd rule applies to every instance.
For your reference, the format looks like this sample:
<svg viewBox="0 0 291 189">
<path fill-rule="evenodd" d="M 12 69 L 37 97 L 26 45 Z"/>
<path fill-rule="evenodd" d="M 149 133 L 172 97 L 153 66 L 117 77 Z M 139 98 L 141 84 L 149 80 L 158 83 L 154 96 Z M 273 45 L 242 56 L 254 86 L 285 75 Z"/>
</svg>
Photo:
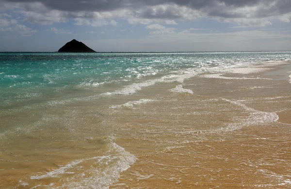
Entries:
<svg viewBox="0 0 291 189">
<path fill-rule="evenodd" d="M 72 177 L 66 179 L 66 183 L 58 188 L 70 189 L 108 189 L 113 182 L 115 182 L 120 173 L 126 171 L 131 164 L 135 162 L 135 157 L 124 148 L 118 146 L 116 143 L 109 144 L 109 155 L 100 157 L 91 157 L 87 159 L 78 159 L 72 161 L 59 169 L 53 170 L 43 175 L 31 176 L 31 179 L 43 179 L 46 177 L 60 177 L 62 174 L 73 174 Z M 113 155 L 114 154 L 114 155 Z M 78 169 L 77 165 L 88 160 L 97 160 L 97 163 L 102 164 L 102 169 L 91 166 L 86 169 L 84 173 L 75 174 L 74 169 Z M 85 176 L 87 175 L 87 176 Z M 90 175 L 90 176 L 88 176 Z M 65 179 L 62 177 L 62 179 Z"/>
</svg>

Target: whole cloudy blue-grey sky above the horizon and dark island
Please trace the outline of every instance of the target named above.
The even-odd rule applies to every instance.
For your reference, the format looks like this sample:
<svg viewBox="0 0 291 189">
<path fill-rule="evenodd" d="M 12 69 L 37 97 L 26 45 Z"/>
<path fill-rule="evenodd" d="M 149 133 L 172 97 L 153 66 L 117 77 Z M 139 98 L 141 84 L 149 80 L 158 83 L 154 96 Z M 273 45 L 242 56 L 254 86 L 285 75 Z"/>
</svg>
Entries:
<svg viewBox="0 0 291 189">
<path fill-rule="evenodd" d="M 0 0 L 0 51 L 291 51 L 291 0 Z"/>
</svg>

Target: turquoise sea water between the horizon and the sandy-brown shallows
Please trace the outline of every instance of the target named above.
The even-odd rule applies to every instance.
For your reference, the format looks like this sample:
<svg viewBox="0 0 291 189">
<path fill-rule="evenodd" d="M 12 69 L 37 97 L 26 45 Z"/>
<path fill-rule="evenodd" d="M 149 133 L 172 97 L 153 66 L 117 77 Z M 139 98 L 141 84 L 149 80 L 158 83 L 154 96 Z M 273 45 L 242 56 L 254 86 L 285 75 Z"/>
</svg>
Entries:
<svg viewBox="0 0 291 189">
<path fill-rule="evenodd" d="M 290 55 L 290 52 L 0 53 L 0 108 L 68 94 L 95 95 L 98 91 L 92 91 L 94 87 L 111 85 L 118 89 L 147 79 L 179 76 L 185 71 L 195 73 L 214 67 L 287 60 Z M 84 91 L 87 93 L 82 94 Z"/>
</svg>

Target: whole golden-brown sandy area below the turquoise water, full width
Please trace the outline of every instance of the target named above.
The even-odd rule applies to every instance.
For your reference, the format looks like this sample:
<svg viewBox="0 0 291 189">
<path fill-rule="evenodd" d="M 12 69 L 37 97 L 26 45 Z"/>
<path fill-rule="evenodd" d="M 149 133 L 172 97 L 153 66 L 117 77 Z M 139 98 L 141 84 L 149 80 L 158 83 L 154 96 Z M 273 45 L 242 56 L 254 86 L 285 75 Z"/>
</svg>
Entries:
<svg viewBox="0 0 291 189">
<path fill-rule="evenodd" d="M 290 71 L 262 63 L 1 114 L 27 132 L 3 135 L 0 188 L 290 188 Z"/>
</svg>

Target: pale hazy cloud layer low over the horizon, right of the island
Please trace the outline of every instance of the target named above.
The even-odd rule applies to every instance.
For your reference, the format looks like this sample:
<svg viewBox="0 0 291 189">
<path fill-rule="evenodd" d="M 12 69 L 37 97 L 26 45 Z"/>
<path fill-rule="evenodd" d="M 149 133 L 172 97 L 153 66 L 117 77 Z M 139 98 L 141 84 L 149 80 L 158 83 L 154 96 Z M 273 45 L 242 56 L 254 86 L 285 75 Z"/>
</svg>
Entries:
<svg viewBox="0 0 291 189">
<path fill-rule="evenodd" d="M 140 39 L 83 41 L 97 51 L 254 51 L 288 50 L 291 31 L 237 31 L 148 35 Z M 127 44 L 124 46 L 124 44 Z"/>
</svg>

